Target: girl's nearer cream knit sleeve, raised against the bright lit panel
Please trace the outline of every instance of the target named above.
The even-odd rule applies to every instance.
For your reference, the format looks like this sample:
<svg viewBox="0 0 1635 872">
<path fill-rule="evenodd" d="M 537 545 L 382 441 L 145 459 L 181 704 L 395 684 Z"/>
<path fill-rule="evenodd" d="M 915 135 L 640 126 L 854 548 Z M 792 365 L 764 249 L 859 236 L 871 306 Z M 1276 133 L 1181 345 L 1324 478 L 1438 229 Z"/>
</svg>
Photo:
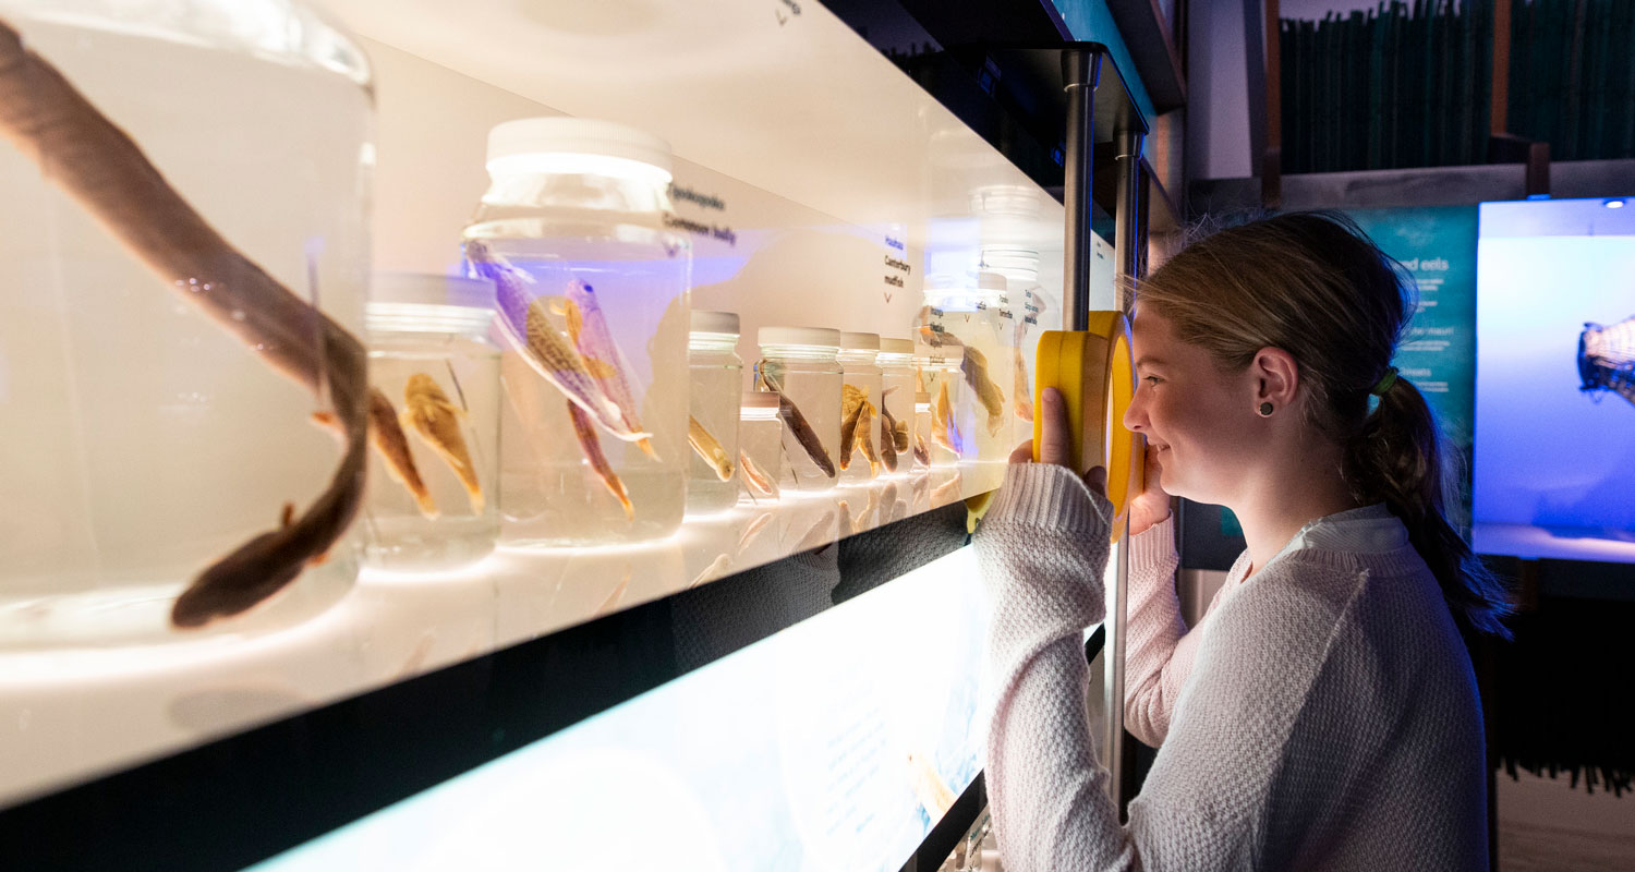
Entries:
<svg viewBox="0 0 1635 872">
<path fill-rule="evenodd" d="M 1006 869 L 1135 869 L 1086 712 L 1110 507 L 1069 470 L 1014 465 L 976 532 L 994 605 L 988 798 Z"/>
</svg>

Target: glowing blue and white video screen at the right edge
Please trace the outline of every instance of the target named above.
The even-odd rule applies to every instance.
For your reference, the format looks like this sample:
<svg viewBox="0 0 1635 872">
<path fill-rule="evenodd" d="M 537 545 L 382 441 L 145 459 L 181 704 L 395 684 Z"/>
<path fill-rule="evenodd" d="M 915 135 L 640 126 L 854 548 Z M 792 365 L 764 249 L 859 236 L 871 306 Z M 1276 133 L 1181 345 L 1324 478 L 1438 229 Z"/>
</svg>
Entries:
<svg viewBox="0 0 1635 872">
<path fill-rule="evenodd" d="M 1635 198 L 1483 203 L 1476 550 L 1635 561 Z"/>
</svg>

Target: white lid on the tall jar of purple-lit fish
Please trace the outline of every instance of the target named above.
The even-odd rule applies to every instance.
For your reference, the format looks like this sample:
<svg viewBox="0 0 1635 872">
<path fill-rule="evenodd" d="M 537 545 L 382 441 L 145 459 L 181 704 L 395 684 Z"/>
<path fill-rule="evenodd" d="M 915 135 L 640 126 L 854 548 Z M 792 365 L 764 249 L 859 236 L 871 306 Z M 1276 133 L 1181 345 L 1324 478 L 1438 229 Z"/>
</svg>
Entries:
<svg viewBox="0 0 1635 872">
<path fill-rule="evenodd" d="M 647 131 L 613 121 L 566 116 L 518 118 L 495 124 L 489 131 L 489 170 L 512 162 L 523 172 L 605 172 L 607 175 L 629 175 L 639 172 L 639 167 L 621 167 L 621 164 L 644 164 L 669 177 L 670 144 Z M 598 164 L 605 169 L 598 170 Z"/>
</svg>

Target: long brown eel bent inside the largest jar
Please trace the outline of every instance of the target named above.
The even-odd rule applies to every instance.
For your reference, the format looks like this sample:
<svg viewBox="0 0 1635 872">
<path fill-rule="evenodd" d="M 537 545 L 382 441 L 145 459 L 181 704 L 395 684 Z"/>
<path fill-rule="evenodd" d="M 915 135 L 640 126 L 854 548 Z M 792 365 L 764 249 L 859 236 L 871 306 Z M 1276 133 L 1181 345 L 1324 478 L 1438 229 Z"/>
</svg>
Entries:
<svg viewBox="0 0 1635 872">
<path fill-rule="evenodd" d="M 183 299 L 268 366 L 329 399 L 345 445 L 329 486 L 304 514 L 284 517 L 199 573 L 177 597 L 170 622 L 203 627 L 267 600 L 320 563 L 358 515 L 370 429 L 363 344 L 234 249 L 7 21 L 0 21 L 0 134 L 49 164 L 46 178 Z"/>
</svg>

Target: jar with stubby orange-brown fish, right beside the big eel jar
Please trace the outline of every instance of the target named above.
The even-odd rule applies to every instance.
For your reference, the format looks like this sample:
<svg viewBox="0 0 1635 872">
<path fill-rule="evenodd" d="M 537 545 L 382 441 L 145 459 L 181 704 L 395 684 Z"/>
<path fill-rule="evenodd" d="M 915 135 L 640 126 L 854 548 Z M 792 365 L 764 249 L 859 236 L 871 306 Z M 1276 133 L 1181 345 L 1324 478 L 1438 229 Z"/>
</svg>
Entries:
<svg viewBox="0 0 1635 872">
<path fill-rule="evenodd" d="M 494 285 L 376 273 L 370 288 L 374 450 L 365 556 L 399 571 L 476 563 L 500 535 L 500 350 Z M 396 429 L 392 429 L 396 425 Z"/>
</svg>

